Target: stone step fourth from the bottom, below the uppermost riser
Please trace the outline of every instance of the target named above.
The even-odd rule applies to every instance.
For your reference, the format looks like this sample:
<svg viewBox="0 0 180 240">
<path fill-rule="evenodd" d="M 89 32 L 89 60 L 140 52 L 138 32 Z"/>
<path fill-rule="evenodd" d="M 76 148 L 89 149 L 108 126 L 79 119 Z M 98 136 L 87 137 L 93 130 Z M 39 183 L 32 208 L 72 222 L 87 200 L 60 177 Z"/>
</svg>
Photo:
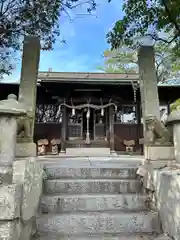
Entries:
<svg viewBox="0 0 180 240">
<path fill-rule="evenodd" d="M 141 184 L 139 180 L 127 179 L 47 179 L 43 189 L 45 194 L 136 193 L 141 192 Z"/>
</svg>

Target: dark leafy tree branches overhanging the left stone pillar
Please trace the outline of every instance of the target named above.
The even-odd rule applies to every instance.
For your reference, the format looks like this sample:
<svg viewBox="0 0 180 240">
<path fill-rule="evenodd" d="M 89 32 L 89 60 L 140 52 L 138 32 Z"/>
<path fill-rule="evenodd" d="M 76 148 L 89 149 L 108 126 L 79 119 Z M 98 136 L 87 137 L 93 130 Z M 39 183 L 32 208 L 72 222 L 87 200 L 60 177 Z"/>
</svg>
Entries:
<svg viewBox="0 0 180 240">
<path fill-rule="evenodd" d="M 60 34 L 59 18 L 80 4 L 95 9 L 94 0 L 1 0 L 0 1 L 0 74 L 10 74 L 11 56 L 20 50 L 24 35 L 41 38 L 43 50 L 52 49 Z"/>
</svg>

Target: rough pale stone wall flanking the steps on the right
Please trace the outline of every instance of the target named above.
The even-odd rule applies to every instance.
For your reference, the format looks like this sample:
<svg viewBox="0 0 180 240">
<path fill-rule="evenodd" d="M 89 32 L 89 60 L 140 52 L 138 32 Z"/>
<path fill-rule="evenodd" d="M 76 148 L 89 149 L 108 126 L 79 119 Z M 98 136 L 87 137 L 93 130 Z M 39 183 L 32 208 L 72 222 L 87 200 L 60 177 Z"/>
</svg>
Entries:
<svg viewBox="0 0 180 240">
<path fill-rule="evenodd" d="M 175 162 L 145 162 L 138 169 L 149 192 L 149 206 L 159 212 L 163 232 L 180 240 L 180 168 Z"/>
</svg>

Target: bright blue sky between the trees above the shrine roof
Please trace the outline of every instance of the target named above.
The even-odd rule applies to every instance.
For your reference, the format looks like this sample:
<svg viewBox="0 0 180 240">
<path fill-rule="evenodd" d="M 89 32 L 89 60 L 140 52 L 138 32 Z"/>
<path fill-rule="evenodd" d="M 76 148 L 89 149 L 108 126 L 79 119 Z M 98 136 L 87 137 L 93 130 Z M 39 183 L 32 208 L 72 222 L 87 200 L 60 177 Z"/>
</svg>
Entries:
<svg viewBox="0 0 180 240">
<path fill-rule="evenodd" d="M 73 21 L 63 14 L 61 17 L 61 37 L 65 44 L 57 39 L 53 51 L 41 52 L 40 71 L 97 71 L 97 66 L 103 64 L 103 51 L 109 46 L 106 42 L 106 33 L 112 28 L 116 20 L 122 18 L 122 0 L 97 0 L 96 12 L 92 15 L 86 13 L 87 6 L 81 6 L 69 14 Z M 76 16 L 76 17 L 75 17 Z M 11 76 L 5 81 L 19 81 L 21 61 Z"/>
</svg>

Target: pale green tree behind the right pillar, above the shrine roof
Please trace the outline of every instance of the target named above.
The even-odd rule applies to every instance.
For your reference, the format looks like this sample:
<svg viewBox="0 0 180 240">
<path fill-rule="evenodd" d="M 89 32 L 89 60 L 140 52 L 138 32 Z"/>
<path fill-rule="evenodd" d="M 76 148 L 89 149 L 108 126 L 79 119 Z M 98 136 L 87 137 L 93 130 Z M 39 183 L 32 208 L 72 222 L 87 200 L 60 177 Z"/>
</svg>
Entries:
<svg viewBox="0 0 180 240">
<path fill-rule="evenodd" d="M 138 58 L 135 49 L 125 46 L 106 50 L 103 54 L 104 66 L 98 69 L 113 73 L 138 73 Z M 175 79 L 180 76 L 180 58 L 175 57 L 173 49 L 164 43 L 155 45 L 155 66 L 158 82 Z"/>
</svg>

